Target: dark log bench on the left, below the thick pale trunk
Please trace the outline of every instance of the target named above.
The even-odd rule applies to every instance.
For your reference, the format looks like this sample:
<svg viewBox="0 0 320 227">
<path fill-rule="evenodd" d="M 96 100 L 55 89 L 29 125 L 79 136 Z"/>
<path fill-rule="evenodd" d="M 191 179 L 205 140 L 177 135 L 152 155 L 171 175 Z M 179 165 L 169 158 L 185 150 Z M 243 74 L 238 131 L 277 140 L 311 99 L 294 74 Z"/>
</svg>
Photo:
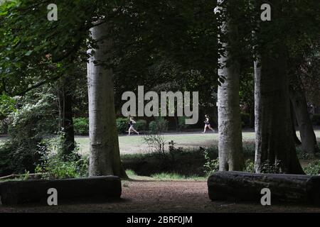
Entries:
<svg viewBox="0 0 320 227">
<path fill-rule="evenodd" d="M 48 189 L 58 192 L 61 201 L 90 201 L 119 198 L 122 193 L 119 177 L 104 176 L 79 179 L 34 179 L 0 182 L 1 203 L 4 205 L 38 203 L 47 204 Z"/>
</svg>

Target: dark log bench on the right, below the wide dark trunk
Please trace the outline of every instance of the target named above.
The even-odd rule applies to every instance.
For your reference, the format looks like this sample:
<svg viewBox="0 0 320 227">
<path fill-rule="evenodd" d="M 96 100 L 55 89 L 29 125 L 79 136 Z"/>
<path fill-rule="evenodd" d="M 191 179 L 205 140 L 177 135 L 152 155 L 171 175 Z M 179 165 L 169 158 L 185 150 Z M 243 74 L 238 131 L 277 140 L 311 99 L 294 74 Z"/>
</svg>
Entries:
<svg viewBox="0 0 320 227">
<path fill-rule="evenodd" d="M 272 201 L 320 205 L 320 176 L 215 172 L 208 178 L 211 200 L 255 201 L 268 188 Z"/>
</svg>

